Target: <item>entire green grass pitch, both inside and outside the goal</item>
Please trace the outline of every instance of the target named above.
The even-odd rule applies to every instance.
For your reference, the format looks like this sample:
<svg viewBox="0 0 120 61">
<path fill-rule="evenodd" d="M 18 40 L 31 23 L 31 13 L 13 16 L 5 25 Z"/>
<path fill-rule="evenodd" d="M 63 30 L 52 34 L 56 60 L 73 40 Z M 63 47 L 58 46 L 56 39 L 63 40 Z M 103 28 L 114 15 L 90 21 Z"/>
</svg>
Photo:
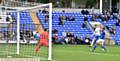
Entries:
<svg viewBox="0 0 120 61">
<path fill-rule="evenodd" d="M 20 45 L 20 54 L 15 54 L 16 45 L 0 44 L 0 58 L 31 58 L 47 59 L 47 48 L 43 47 L 39 54 L 35 54 L 35 45 Z M 88 45 L 53 45 L 52 61 L 120 61 L 120 46 L 107 46 L 108 52 L 100 47 L 96 52 L 90 52 Z"/>
</svg>

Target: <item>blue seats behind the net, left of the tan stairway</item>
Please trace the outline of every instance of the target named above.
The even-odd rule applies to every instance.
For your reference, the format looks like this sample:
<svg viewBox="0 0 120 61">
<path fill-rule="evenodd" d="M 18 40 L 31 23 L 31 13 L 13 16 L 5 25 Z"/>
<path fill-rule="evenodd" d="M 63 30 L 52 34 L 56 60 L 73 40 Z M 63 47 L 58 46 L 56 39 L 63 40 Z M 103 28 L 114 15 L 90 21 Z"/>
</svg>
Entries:
<svg viewBox="0 0 120 61">
<path fill-rule="evenodd" d="M 10 12 L 9 14 L 17 19 L 17 12 Z M 35 30 L 35 25 L 33 24 L 32 18 L 27 11 L 20 12 L 20 25 L 21 30 Z M 16 27 L 14 29 L 16 29 Z"/>
</svg>

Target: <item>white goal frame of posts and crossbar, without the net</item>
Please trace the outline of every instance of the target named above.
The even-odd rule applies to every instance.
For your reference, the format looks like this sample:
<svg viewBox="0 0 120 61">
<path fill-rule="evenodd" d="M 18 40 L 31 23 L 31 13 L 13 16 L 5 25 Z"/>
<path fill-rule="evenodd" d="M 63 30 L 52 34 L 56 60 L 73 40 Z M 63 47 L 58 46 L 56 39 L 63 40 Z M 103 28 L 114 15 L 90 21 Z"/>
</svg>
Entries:
<svg viewBox="0 0 120 61">
<path fill-rule="evenodd" d="M 6 7 L 0 6 L 6 9 L 16 9 L 17 12 L 17 54 L 20 54 L 20 13 L 23 10 L 32 10 L 39 7 L 49 6 L 49 48 L 48 48 L 48 60 L 52 60 L 52 3 L 41 4 L 34 7 Z"/>
</svg>

